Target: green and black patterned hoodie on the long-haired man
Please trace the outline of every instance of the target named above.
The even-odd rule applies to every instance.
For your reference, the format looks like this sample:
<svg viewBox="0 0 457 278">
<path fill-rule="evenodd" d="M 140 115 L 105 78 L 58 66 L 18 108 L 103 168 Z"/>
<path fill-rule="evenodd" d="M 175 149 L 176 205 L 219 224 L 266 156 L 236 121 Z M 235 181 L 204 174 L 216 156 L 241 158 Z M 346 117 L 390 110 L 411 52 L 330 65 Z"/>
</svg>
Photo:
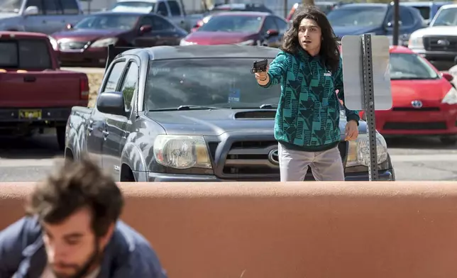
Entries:
<svg viewBox="0 0 457 278">
<path fill-rule="evenodd" d="M 319 56 L 304 50 L 297 55 L 281 51 L 270 64 L 270 82 L 281 85 L 275 117 L 275 139 L 287 148 L 318 152 L 329 150 L 341 140 L 339 100 L 344 99 L 343 70 L 336 74 L 323 66 Z M 336 94 L 338 90 L 338 95 Z M 343 107 L 347 121 L 358 121 L 356 111 Z"/>
</svg>

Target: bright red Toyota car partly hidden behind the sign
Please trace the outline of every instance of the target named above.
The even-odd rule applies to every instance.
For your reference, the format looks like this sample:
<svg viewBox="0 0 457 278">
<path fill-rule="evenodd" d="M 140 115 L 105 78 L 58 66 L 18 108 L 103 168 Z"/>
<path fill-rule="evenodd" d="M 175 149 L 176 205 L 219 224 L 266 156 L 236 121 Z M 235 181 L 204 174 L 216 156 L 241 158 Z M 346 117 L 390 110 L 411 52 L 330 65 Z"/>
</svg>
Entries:
<svg viewBox="0 0 457 278">
<path fill-rule="evenodd" d="M 390 47 L 392 109 L 376 111 L 382 135 L 437 135 L 457 142 L 457 90 L 451 74 L 402 46 Z M 363 116 L 363 112 L 360 112 Z"/>
</svg>

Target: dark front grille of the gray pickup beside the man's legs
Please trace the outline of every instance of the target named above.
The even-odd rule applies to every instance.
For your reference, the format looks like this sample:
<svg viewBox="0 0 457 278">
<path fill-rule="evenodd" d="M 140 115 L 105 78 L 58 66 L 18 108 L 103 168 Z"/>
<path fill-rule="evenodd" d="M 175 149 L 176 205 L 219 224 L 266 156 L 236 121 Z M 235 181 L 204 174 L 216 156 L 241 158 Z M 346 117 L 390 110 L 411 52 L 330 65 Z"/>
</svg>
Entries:
<svg viewBox="0 0 457 278">
<path fill-rule="evenodd" d="M 338 145 L 341 157 L 346 157 L 347 143 Z M 277 163 L 277 141 L 237 141 L 233 142 L 222 169 L 225 179 L 258 179 L 279 177 Z"/>
</svg>

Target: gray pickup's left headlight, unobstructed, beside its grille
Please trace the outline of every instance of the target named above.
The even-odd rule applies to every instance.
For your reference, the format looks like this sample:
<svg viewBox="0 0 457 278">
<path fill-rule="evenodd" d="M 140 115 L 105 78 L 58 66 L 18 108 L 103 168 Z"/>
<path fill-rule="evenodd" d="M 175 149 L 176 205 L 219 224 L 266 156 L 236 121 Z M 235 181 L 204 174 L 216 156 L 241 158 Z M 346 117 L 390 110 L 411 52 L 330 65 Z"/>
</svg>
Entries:
<svg viewBox="0 0 457 278">
<path fill-rule="evenodd" d="M 211 169 L 207 143 L 198 135 L 158 135 L 154 157 L 160 165 L 175 169 Z"/>
</svg>

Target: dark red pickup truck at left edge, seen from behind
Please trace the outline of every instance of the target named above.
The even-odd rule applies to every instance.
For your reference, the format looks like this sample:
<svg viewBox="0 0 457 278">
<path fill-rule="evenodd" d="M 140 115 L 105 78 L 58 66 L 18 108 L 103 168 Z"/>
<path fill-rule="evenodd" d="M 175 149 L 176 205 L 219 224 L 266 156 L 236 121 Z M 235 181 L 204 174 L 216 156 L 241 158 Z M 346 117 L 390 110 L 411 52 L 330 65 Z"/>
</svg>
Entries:
<svg viewBox="0 0 457 278">
<path fill-rule="evenodd" d="M 72 107 L 88 101 L 87 74 L 60 70 L 48 35 L 0 32 L 0 135 L 55 128 L 63 148 Z"/>
</svg>

